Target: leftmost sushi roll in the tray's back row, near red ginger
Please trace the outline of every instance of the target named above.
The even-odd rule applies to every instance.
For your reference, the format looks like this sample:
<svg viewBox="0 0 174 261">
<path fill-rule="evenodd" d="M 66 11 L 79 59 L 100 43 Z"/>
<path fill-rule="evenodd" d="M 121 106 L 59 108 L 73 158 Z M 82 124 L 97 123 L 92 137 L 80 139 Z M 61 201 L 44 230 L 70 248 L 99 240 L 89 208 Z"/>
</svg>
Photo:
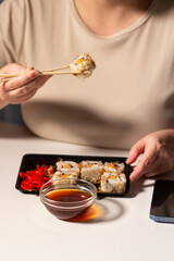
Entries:
<svg viewBox="0 0 174 261">
<path fill-rule="evenodd" d="M 76 173 L 77 176 L 79 176 L 79 164 L 75 161 L 63 161 L 60 160 L 55 163 L 57 172 L 73 172 Z"/>
</svg>

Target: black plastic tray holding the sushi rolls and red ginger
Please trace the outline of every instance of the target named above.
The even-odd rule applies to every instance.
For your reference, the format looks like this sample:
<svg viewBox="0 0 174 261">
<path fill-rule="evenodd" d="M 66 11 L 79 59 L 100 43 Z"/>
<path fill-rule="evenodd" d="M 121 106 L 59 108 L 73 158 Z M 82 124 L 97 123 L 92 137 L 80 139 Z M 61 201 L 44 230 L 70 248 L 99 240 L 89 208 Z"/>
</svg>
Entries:
<svg viewBox="0 0 174 261">
<path fill-rule="evenodd" d="M 119 161 L 119 162 L 126 162 L 127 158 L 123 157 L 96 157 L 96 156 L 70 156 L 70 154 L 25 154 L 22 159 L 15 188 L 18 189 L 21 192 L 24 194 L 35 194 L 38 195 L 39 190 L 35 191 L 27 191 L 21 189 L 21 183 L 22 178 L 20 177 L 20 172 L 26 172 L 32 171 L 36 169 L 36 165 L 41 166 L 42 164 L 47 165 L 54 165 L 58 160 L 69 160 L 69 161 L 75 161 L 80 162 L 83 160 L 95 160 L 95 161 L 102 161 L 109 162 L 109 161 Z M 114 196 L 114 197 L 123 197 L 125 196 L 129 190 L 129 174 L 130 174 L 130 167 L 125 163 L 125 175 L 126 175 L 126 189 L 124 194 L 105 194 L 105 192 L 99 192 L 98 196 Z"/>
</svg>

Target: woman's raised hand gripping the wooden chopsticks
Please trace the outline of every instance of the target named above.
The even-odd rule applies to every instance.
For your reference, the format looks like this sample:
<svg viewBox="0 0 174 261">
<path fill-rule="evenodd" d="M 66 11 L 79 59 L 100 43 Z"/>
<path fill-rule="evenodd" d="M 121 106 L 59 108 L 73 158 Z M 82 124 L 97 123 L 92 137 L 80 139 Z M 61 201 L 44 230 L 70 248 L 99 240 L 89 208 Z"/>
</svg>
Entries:
<svg viewBox="0 0 174 261">
<path fill-rule="evenodd" d="M 3 104 L 15 104 L 27 101 L 50 78 L 50 76 L 40 76 L 37 70 L 26 69 L 16 63 L 12 63 L 2 67 L 0 73 L 22 74 L 8 82 L 0 83 L 1 107 L 3 107 Z"/>
</svg>

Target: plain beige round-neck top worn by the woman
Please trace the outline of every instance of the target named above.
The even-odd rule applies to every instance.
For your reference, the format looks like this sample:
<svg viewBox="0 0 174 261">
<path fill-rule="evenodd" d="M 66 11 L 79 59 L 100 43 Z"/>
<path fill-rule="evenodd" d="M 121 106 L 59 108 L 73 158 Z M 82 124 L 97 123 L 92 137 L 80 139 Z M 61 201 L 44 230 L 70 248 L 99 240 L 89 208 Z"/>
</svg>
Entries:
<svg viewBox="0 0 174 261">
<path fill-rule="evenodd" d="M 5 0 L 0 17 L 0 65 L 45 70 L 83 52 L 97 65 L 84 82 L 52 77 L 22 105 L 36 135 L 128 149 L 148 133 L 174 127 L 173 0 L 154 0 L 135 24 L 107 37 L 83 23 L 72 0 Z"/>
</svg>

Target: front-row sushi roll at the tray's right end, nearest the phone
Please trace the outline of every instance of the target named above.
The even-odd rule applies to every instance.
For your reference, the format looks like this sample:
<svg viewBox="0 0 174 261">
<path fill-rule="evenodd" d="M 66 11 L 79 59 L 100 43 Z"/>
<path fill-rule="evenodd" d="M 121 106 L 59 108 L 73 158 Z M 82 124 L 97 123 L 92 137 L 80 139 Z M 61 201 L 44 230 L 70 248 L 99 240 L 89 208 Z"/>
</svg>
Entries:
<svg viewBox="0 0 174 261">
<path fill-rule="evenodd" d="M 100 191 L 111 194 L 124 194 L 126 189 L 126 176 L 124 173 L 115 174 L 104 172 L 101 176 Z"/>
</svg>

